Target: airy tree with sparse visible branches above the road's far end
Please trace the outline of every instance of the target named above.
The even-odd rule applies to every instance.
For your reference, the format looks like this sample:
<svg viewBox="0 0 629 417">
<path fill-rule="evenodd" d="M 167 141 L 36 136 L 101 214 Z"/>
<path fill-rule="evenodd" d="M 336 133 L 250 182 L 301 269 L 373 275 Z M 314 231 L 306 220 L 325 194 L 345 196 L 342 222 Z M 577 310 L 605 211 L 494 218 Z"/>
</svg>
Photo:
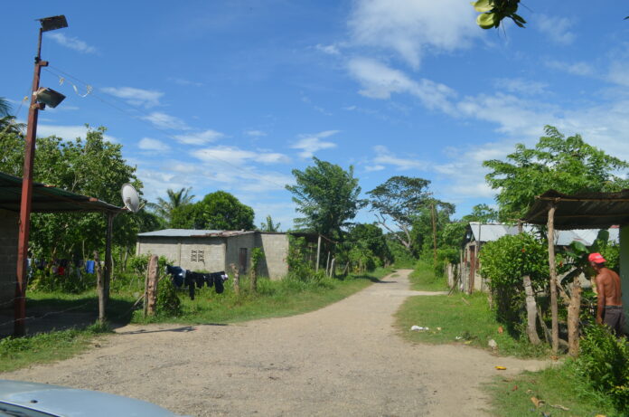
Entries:
<svg viewBox="0 0 629 417">
<path fill-rule="evenodd" d="M 430 181 L 410 176 L 391 176 L 367 194 L 371 196 L 371 211 L 376 213 L 378 223 L 393 233 L 407 251 L 411 251 L 412 224 L 418 211 L 425 207 L 430 196 L 427 187 Z M 387 222 L 391 221 L 395 227 Z M 401 233 L 393 229 L 397 228 Z"/>
</svg>

